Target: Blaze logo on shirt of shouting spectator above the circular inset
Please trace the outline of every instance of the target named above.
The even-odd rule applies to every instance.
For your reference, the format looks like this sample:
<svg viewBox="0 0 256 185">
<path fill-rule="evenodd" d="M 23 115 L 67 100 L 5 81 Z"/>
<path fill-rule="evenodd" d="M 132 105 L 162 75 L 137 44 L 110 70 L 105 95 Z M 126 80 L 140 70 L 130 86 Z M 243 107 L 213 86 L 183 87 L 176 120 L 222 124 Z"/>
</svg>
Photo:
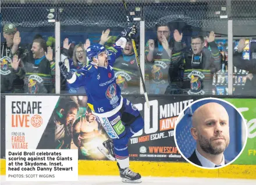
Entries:
<svg viewBox="0 0 256 185">
<path fill-rule="evenodd" d="M 205 94 L 202 90 L 202 80 L 205 78 L 204 74 L 198 70 L 193 70 L 187 76 L 190 79 L 190 90 L 188 94 Z"/>
</svg>

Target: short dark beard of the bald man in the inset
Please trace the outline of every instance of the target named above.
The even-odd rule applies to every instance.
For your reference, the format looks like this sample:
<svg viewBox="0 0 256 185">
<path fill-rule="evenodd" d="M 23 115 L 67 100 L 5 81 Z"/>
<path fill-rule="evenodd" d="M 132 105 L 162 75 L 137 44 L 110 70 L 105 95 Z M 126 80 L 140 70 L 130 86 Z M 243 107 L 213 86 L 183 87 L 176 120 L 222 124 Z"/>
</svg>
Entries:
<svg viewBox="0 0 256 185">
<path fill-rule="evenodd" d="M 225 139 L 225 144 L 226 144 L 225 149 L 226 149 L 228 144 L 227 144 L 226 138 L 224 138 L 224 139 Z M 220 147 L 214 147 L 211 144 L 211 142 L 207 138 L 202 136 L 201 134 L 199 134 L 199 136 L 198 136 L 198 141 L 199 141 L 199 144 L 200 144 L 200 147 L 202 148 L 202 150 L 204 152 L 207 152 L 208 154 L 219 155 L 225 150 Z"/>
</svg>

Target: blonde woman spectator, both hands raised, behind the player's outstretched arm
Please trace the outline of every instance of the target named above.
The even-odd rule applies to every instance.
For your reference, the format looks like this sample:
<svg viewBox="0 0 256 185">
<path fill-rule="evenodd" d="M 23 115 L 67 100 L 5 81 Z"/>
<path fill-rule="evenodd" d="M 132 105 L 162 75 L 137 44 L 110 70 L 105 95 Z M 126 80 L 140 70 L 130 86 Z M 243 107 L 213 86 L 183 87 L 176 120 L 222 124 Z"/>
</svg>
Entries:
<svg viewBox="0 0 256 185">
<path fill-rule="evenodd" d="M 65 38 L 65 40 L 63 41 L 61 61 L 65 62 L 66 59 L 69 60 L 70 70 L 75 72 L 77 69 L 81 69 L 81 67 L 83 67 L 87 63 L 86 49 L 90 46 L 90 40 L 87 39 L 85 44 L 77 44 L 73 48 L 73 55 L 72 55 L 72 58 L 70 59 L 68 56 L 70 56 L 71 45 L 72 45 L 71 43 L 69 44 L 69 39 Z M 61 84 L 62 84 L 61 85 L 62 90 L 64 90 L 65 93 L 86 95 L 86 90 L 84 89 L 84 87 L 80 87 L 80 88 L 69 87 L 69 84 L 67 83 L 67 81 L 65 80 L 62 74 L 61 74 Z"/>
</svg>

